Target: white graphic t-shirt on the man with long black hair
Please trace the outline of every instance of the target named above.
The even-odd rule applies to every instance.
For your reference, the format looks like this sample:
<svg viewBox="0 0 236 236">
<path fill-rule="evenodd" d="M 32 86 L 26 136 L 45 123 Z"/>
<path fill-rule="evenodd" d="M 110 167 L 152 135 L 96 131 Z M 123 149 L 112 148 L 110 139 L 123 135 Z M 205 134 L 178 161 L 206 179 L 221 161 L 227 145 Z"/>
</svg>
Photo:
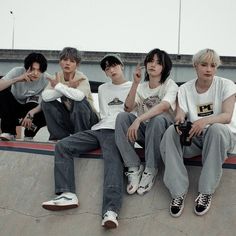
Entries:
<svg viewBox="0 0 236 236">
<path fill-rule="evenodd" d="M 178 89 L 178 85 L 172 79 L 167 79 L 163 84 L 154 89 L 149 87 L 148 81 L 140 84 L 135 97 L 138 116 L 147 112 L 161 101 L 166 101 L 171 105 L 169 114 L 173 117 Z"/>
</svg>

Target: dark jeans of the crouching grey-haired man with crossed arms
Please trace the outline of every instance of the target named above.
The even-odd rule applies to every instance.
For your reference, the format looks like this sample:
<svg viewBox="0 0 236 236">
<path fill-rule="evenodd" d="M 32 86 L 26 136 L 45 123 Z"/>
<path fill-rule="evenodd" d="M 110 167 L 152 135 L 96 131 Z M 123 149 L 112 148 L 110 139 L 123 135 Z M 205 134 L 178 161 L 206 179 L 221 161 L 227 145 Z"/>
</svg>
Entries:
<svg viewBox="0 0 236 236">
<path fill-rule="evenodd" d="M 42 102 L 42 110 L 50 133 L 49 140 L 60 140 L 70 134 L 89 130 L 98 122 L 97 114 L 92 110 L 86 98 L 82 101 L 72 101 L 72 103 L 72 110 L 68 111 L 57 100 Z"/>
</svg>

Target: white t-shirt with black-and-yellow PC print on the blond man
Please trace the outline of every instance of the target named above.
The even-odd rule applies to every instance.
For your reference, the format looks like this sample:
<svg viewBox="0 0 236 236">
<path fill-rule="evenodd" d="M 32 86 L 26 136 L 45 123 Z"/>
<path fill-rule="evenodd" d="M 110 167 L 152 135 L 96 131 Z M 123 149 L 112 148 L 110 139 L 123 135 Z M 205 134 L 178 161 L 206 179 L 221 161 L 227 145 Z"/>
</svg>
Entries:
<svg viewBox="0 0 236 236">
<path fill-rule="evenodd" d="M 196 80 L 181 85 L 178 92 L 179 106 L 191 122 L 222 113 L 223 101 L 236 94 L 236 85 L 233 81 L 218 76 L 213 78 L 210 88 L 205 93 L 199 94 L 195 86 Z M 227 126 L 236 134 L 236 105 L 231 123 Z"/>
</svg>

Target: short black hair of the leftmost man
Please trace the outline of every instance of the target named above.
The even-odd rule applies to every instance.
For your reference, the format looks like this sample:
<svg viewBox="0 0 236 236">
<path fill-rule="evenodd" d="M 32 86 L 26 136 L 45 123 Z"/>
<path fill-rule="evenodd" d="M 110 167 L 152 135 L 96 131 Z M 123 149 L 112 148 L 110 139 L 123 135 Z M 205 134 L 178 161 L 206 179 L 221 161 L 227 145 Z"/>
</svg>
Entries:
<svg viewBox="0 0 236 236">
<path fill-rule="evenodd" d="M 32 52 L 24 60 L 24 67 L 28 70 L 34 62 L 39 63 L 39 70 L 43 73 L 47 70 L 47 59 L 41 53 Z"/>
</svg>

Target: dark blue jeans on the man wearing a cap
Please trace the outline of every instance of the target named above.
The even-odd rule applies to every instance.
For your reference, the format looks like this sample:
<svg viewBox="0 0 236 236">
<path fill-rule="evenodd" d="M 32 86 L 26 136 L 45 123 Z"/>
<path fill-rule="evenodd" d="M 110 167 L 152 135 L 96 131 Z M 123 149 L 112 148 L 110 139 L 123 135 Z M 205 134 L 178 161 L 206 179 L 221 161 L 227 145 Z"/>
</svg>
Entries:
<svg viewBox="0 0 236 236">
<path fill-rule="evenodd" d="M 110 129 L 87 130 L 62 139 L 55 147 L 55 192 L 75 193 L 74 158 L 101 147 L 104 159 L 102 214 L 119 213 L 123 195 L 123 163 Z"/>
</svg>

